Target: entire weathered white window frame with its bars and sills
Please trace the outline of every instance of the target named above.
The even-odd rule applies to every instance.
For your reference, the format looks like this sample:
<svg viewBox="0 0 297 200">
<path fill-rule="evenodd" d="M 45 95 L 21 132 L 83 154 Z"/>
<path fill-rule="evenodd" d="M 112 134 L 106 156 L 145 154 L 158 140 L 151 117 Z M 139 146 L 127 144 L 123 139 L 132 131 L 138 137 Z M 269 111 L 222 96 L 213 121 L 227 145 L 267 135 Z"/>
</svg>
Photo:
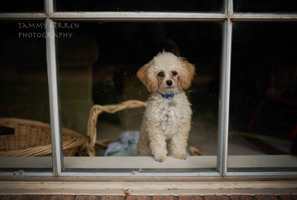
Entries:
<svg viewBox="0 0 297 200">
<path fill-rule="evenodd" d="M 104 184 L 98 184 L 96 186 L 92 186 L 93 188 L 88 190 L 88 186 L 85 183 L 77 183 L 72 182 L 72 185 L 67 183 L 67 187 L 69 191 L 72 191 L 73 194 L 85 194 L 87 191 L 93 190 L 102 190 L 101 192 L 91 192 L 92 194 L 118 194 L 117 192 L 119 188 L 123 185 L 123 188 L 130 188 L 125 190 L 125 193 L 130 193 L 134 189 L 134 191 L 138 191 L 141 194 L 146 189 L 139 189 L 136 183 L 129 185 L 129 183 L 122 184 L 122 186 L 116 185 L 121 181 L 138 181 L 143 182 L 143 184 L 148 187 L 157 187 L 160 178 L 162 181 L 175 181 L 173 185 L 177 188 L 178 191 L 186 191 L 183 194 L 200 194 L 199 192 L 194 192 L 197 189 L 201 189 L 204 191 L 208 189 L 208 191 L 217 192 L 220 187 L 223 190 L 219 191 L 231 191 L 234 187 L 228 187 L 228 184 L 224 184 L 221 182 L 217 187 L 212 189 L 207 187 L 207 183 L 203 182 L 203 184 L 198 184 L 199 181 L 230 181 L 230 180 L 249 180 L 255 181 L 251 184 L 246 182 L 240 182 L 242 189 L 242 193 L 244 191 L 248 191 L 247 193 L 251 193 L 251 190 L 244 190 L 244 188 L 256 188 L 259 187 L 258 180 L 268 180 L 268 179 L 285 179 L 288 182 L 279 183 L 280 185 L 272 185 L 269 186 L 268 189 L 271 188 L 281 188 L 280 190 L 274 191 L 295 191 L 295 186 L 292 184 L 296 184 L 297 172 L 227 172 L 227 147 L 228 147 L 228 119 L 229 119 L 229 96 L 230 96 L 230 64 L 231 64 L 231 41 L 232 41 L 232 24 L 236 21 L 297 21 L 296 14 L 264 14 L 264 13 L 233 13 L 233 1 L 225 0 L 224 1 L 224 12 L 223 13 L 181 13 L 181 12 L 54 12 L 53 9 L 53 0 L 45 0 L 45 12 L 44 13 L 0 13 L 0 20 L 44 20 L 45 23 L 54 23 L 54 21 L 214 21 L 214 22 L 223 22 L 223 34 L 222 34 L 222 64 L 220 69 L 220 96 L 219 96 L 219 122 L 218 122 L 218 154 L 217 156 L 196 156 L 192 158 L 187 158 L 183 165 L 187 165 L 187 167 L 182 167 L 181 164 L 178 164 L 178 161 L 173 161 L 171 158 L 168 158 L 168 162 L 175 162 L 174 164 L 177 167 L 184 168 L 185 172 L 178 173 L 141 173 L 141 169 L 139 171 L 127 171 L 127 172 L 116 172 L 116 173 L 105 173 L 105 172 L 63 172 L 63 168 L 94 168 L 98 165 L 98 163 L 103 163 L 101 168 L 108 168 L 108 166 L 115 166 L 117 163 L 122 162 L 122 168 L 141 168 L 143 163 L 150 166 L 151 168 L 169 168 L 168 166 L 161 166 L 160 163 L 151 162 L 149 157 L 139 158 L 139 157 L 129 157 L 129 162 L 124 162 L 122 158 L 102 158 L 102 157 L 92 157 L 92 158 L 79 158 L 79 157 L 65 157 L 62 155 L 61 148 L 61 124 L 60 124 L 60 116 L 59 116 L 59 105 L 58 105 L 58 80 L 57 80 L 57 60 L 56 60 L 56 47 L 55 38 L 47 37 L 46 38 L 46 49 L 47 49 L 47 63 L 48 63 L 48 82 L 49 82 L 49 97 L 50 97 L 50 121 L 51 121 L 51 131 L 52 131 L 52 162 L 49 159 L 51 158 L 0 158 L 1 164 L 0 167 L 40 167 L 40 168 L 53 168 L 53 172 L 1 172 L 0 173 L 0 181 L 6 180 L 11 182 L 0 182 L 0 194 L 1 191 L 4 191 L 5 184 L 10 184 L 11 187 L 17 187 L 16 184 L 19 185 L 18 181 L 36 181 L 39 188 L 42 186 L 38 181 L 49 181 L 48 192 L 45 193 L 54 193 L 55 191 L 60 191 L 59 186 L 55 183 L 50 183 L 51 181 L 103 181 L 102 183 L 109 184 L 110 188 L 113 190 L 109 192 L 103 192 L 106 189 Z M 50 32 L 51 35 L 55 32 L 54 27 L 47 26 L 47 32 Z M 216 157 L 216 158 L 215 158 Z M 87 160 L 86 160 L 87 159 Z M 89 160 L 88 160 L 89 159 Z M 126 159 L 126 158 L 125 158 Z M 143 160 L 144 159 L 144 160 Z M 240 166 L 243 163 L 247 164 L 253 160 L 251 157 L 230 157 L 230 160 L 234 160 L 230 165 Z M 284 162 L 280 163 L 277 160 L 281 159 L 280 156 L 274 157 L 276 160 L 273 163 L 274 166 L 297 166 L 296 160 L 290 162 L 290 158 L 286 158 Z M 80 162 L 78 162 L 80 160 Z M 102 162 L 104 160 L 104 162 Z M 126 159 L 127 160 L 127 159 Z M 237 160 L 237 162 L 236 162 Z M 289 162 L 288 162 L 289 160 Z M 65 163 L 64 163 L 65 162 Z M 84 163 L 87 163 L 85 165 Z M 187 171 L 187 168 L 199 168 L 199 167 L 211 167 L 216 163 L 216 168 L 218 172 L 191 172 Z M 21 164 L 20 164 L 21 163 Z M 106 164 L 108 163 L 108 164 Z M 129 166 L 130 163 L 135 163 L 133 166 Z M 212 164 L 210 164 L 212 163 Z M 51 166 L 52 165 L 52 166 Z M 259 163 L 252 163 L 249 165 L 250 167 L 259 166 Z M 97 166 L 98 167 L 98 166 Z M 230 166 L 229 166 L 230 167 Z M 114 181 L 114 183 L 104 182 L 104 181 Z M 149 183 L 144 183 L 146 181 L 150 181 Z M 189 187 L 183 188 L 184 186 L 180 186 L 177 184 L 178 181 L 184 182 L 188 186 L 191 185 L 187 181 L 196 181 L 195 184 L 192 184 Z M 271 182 L 266 182 L 268 184 L 272 184 Z M 64 183 L 66 184 L 66 183 Z M 155 186 L 152 186 L 155 185 Z M 197 186 L 198 184 L 198 186 Z M 239 182 L 238 182 L 239 184 Z M 121 185 L 121 184 L 120 184 Z M 166 185 L 166 184 L 165 184 Z M 171 184 L 172 185 L 172 184 Z M 32 193 L 33 188 L 32 185 L 26 185 L 24 183 L 22 185 L 23 188 L 27 188 L 28 193 Z M 85 188 L 85 192 L 80 191 L 75 192 L 75 188 L 80 186 Z M 164 189 L 164 194 L 170 194 L 172 191 L 170 188 L 170 184 L 166 187 L 164 184 L 162 185 Z M 262 187 L 263 186 L 263 187 Z M 267 185 L 262 185 L 262 188 L 267 187 Z M 17 187 L 22 191 L 20 187 Z M 105 189 L 104 189 L 105 188 Z M 132 188 L 132 189 L 131 189 Z M 147 187 L 146 187 L 147 188 Z M 156 189 L 156 188 L 154 188 Z M 267 188 L 266 188 L 267 189 Z M 156 189 L 157 190 L 157 189 Z M 31 191 L 31 192 L 30 192 Z M 61 190 L 62 191 L 62 190 Z M 176 191 L 176 192 L 178 192 Z M 269 190 L 270 191 L 270 190 Z M 121 191 L 122 192 L 122 191 Z M 18 192 L 16 192 L 18 193 Z M 70 194 L 71 192 L 69 192 Z M 151 194 L 153 194 L 152 192 Z M 210 192 L 211 193 L 211 192 Z M 209 194 L 210 194 L 209 193 Z M 2 194 L 4 194 L 2 192 Z M 160 192 L 158 193 L 160 194 Z M 201 192 L 201 194 L 206 194 L 205 192 Z"/>
</svg>

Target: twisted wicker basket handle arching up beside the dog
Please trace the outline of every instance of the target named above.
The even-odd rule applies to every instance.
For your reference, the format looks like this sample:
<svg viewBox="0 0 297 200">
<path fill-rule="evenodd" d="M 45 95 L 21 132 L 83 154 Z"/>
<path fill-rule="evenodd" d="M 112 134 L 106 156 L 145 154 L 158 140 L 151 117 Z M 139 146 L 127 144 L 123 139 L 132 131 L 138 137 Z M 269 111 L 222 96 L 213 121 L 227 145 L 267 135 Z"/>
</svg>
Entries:
<svg viewBox="0 0 297 200">
<path fill-rule="evenodd" d="M 86 152 L 89 154 L 89 156 L 95 156 L 95 144 L 97 140 L 96 124 L 99 114 L 103 112 L 113 114 L 124 109 L 143 108 L 146 106 L 146 102 L 138 100 L 128 100 L 120 104 L 113 105 L 93 105 L 90 111 L 90 117 L 87 127 L 88 141 L 86 143 Z"/>
</svg>

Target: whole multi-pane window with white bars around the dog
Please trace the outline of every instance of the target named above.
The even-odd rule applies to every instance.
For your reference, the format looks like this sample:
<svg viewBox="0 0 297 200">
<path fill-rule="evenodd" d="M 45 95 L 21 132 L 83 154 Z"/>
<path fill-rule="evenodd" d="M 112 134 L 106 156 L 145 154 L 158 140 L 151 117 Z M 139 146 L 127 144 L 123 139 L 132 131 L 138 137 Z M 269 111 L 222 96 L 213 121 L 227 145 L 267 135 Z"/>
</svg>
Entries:
<svg viewBox="0 0 297 200">
<path fill-rule="evenodd" d="M 8 40 L 1 44 L 0 117 L 46 124 L 52 148 L 49 157 L 1 157 L 0 175 L 128 181 L 296 175 L 297 4 L 166 3 L 45 1 L 45 12 L 38 5 L 1 8 L 1 36 Z M 186 91 L 193 156 L 158 163 L 104 157 L 102 148 L 88 156 L 92 105 L 146 101 L 149 93 L 135 74 L 163 49 L 196 66 Z M 143 109 L 99 115 L 93 138 L 112 141 L 139 130 Z M 14 134 L 4 125 L 1 131 Z"/>
</svg>

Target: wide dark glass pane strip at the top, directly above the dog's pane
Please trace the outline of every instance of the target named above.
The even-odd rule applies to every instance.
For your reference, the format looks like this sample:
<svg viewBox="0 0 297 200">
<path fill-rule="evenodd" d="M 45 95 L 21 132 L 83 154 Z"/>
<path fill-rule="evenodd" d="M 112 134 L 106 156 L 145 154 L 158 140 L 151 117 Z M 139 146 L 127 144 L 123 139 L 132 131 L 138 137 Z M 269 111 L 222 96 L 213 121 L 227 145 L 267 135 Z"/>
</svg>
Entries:
<svg viewBox="0 0 297 200">
<path fill-rule="evenodd" d="M 69 0 L 57 0 L 56 10 L 58 12 L 85 12 L 85 11 L 157 11 L 157 12 L 222 12 L 223 1 L 211 0 L 211 1 L 69 1 Z"/>
</svg>

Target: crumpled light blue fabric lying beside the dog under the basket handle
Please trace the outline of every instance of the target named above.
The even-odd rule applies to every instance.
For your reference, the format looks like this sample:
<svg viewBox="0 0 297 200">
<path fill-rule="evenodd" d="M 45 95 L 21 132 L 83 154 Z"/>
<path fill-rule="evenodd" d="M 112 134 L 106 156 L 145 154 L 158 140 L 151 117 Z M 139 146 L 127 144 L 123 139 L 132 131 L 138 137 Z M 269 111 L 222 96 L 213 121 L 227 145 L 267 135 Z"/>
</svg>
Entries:
<svg viewBox="0 0 297 200">
<path fill-rule="evenodd" d="M 139 131 L 125 131 L 116 141 L 108 144 L 104 156 L 137 156 Z"/>
</svg>

